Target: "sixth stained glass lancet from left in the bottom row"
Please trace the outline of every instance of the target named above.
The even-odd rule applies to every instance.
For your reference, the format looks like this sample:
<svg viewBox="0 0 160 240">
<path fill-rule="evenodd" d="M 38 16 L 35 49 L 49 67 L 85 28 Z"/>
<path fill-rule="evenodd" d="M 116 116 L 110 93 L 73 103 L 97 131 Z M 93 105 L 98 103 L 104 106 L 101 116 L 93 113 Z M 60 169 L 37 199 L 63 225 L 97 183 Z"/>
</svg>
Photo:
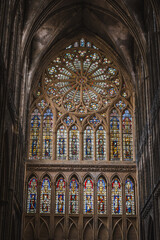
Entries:
<svg viewBox="0 0 160 240">
<path fill-rule="evenodd" d="M 106 181 L 104 178 L 100 177 L 97 183 L 97 207 L 98 214 L 106 213 L 106 204 L 107 204 L 107 196 L 106 196 Z"/>
</svg>

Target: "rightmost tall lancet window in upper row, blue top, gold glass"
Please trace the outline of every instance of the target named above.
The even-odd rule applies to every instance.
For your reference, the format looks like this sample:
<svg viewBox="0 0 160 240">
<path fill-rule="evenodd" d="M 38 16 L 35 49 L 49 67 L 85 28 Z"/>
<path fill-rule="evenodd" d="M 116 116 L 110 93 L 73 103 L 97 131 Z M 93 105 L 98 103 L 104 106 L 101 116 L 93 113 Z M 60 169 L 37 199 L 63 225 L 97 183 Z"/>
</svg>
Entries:
<svg viewBox="0 0 160 240">
<path fill-rule="evenodd" d="M 124 160 L 133 160 L 133 143 L 132 143 L 132 116 L 128 110 L 122 115 L 123 131 L 123 158 Z"/>
</svg>

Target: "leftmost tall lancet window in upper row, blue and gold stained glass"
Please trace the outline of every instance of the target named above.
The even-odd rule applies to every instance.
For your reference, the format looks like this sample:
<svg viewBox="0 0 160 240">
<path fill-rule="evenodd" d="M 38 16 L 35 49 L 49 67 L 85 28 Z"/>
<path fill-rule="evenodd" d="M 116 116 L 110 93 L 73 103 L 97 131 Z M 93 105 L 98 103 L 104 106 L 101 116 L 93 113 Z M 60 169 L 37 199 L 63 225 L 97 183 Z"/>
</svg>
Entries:
<svg viewBox="0 0 160 240">
<path fill-rule="evenodd" d="M 36 159 L 40 156 L 40 126 L 41 115 L 38 109 L 35 109 L 31 115 L 30 128 L 30 159 Z"/>
</svg>

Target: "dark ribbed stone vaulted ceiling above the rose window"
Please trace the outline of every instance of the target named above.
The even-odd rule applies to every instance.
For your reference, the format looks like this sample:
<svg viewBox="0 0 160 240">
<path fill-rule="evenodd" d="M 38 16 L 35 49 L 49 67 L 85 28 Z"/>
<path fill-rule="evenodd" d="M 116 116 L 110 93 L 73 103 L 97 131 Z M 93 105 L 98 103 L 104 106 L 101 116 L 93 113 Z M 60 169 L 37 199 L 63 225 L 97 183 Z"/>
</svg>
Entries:
<svg viewBox="0 0 160 240">
<path fill-rule="evenodd" d="M 99 38 L 135 83 L 135 52 L 145 58 L 143 0 L 25 1 L 22 58 L 29 56 L 30 85 L 43 65 L 80 32 Z M 63 40 L 63 41 L 62 41 Z"/>
</svg>

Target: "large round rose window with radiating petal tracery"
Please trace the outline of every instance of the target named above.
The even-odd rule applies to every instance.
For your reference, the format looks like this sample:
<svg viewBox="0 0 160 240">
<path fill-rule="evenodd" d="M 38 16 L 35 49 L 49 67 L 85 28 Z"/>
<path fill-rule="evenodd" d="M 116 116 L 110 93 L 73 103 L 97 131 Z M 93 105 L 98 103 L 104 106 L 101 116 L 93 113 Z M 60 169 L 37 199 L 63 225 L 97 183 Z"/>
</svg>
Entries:
<svg viewBox="0 0 160 240">
<path fill-rule="evenodd" d="M 58 108 L 92 113 L 107 108 L 120 90 L 120 76 L 111 60 L 81 39 L 67 47 L 45 72 L 45 89 Z"/>
</svg>

